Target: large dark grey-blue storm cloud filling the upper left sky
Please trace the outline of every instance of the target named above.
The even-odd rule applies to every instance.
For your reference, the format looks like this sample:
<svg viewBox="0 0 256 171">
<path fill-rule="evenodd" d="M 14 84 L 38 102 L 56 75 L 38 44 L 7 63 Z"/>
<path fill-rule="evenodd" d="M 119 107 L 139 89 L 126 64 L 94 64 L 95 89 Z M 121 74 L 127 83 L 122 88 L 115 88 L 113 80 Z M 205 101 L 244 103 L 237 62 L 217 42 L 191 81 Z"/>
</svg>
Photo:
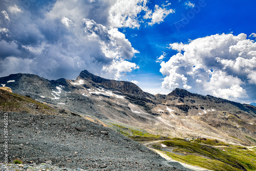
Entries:
<svg viewBox="0 0 256 171">
<path fill-rule="evenodd" d="M 131 44 L 115 47 L 109 33 L 110 6 L 110 1 L 1 1 L 0 76 L 26 72 L 73 79 L 84 69 L 101 74 L 105 67 L 108 72 L 113 62 L 123 61 L 123 50 L 132 50 L 124 53 L 131 59 Z M 93 27 L 86 27 L 85 20 Z"/>
</svg>

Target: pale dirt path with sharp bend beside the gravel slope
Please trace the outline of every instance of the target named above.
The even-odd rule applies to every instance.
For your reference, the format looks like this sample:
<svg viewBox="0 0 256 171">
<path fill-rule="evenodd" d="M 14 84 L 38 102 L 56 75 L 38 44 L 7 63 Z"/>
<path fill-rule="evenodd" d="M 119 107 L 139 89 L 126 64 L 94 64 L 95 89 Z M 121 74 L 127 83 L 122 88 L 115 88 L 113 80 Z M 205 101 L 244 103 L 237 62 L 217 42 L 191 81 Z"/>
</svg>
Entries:
<svg viewBox="0 0 256 171">
<path fill-rule="evenodd" d="M 144 144 L 143 144 L 143 142 L 141 142 L 141 143 L 146 146 L 148 144 L 152 144 L 152 143 L 156 143 L 156 142 L 162 142 L 162 141 L 166 141 L 166 140 L 150 141 L 150 142 L 147 142 L 147 143 L 144 143 Z M 150 148 L 150 147 L 148 147 L 148 148 Z M 189 169 L 192 169 L 192 170 L 196 170 L 196 171 L 206 171 L 206 170 L 209 170 L 209 169 L 206 169 L 206 168 L 202 168 L 202 167 L 198 167 L 198 166 L 194 166 L 194 165 L 190 165 L 190 164 L 186 164 L 186 163 L 182 163 L 182 162 L 176 161 L 176 160 L 174 160 L 171 157 L 167 156 L 166 154 L 164 154 L 164 152 L 162 152 L 162 151 L 160 151 L 158 149 L 154 149 L 154 148 L 150 148 L 150 149 L 152 151 L 156 152 L 157 154 L 159 154 L 162 158 L 165 158 L 167 161 L 178 162 L 178 163 L 180 163 L 181 165 L 183 165 L 186 168 L 189 168 Z"/>
</svg>

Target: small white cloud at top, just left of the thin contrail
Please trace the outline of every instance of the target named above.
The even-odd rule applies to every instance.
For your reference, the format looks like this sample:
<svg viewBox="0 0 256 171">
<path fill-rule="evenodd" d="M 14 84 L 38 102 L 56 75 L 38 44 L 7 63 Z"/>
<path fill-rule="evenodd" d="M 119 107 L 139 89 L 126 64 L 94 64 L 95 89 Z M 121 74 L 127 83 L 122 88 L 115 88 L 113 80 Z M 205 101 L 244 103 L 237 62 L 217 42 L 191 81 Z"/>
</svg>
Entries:
<svg viewBox="0 0 256 171">
<path fill-rule="evenodd" d="M 161 8 L 158 5 L 155 5 L 155 11 L 152 13 L 152 11 L 147 12 L 146 16 L 144 18 L 151 18 L 151 22 L 148 23 L 149 25 L 159 24 L 163 22 L 164 18 L 169 15 L 170 13 L 174 13 L 173 9 L 165 9 Z"/>
</svg>

